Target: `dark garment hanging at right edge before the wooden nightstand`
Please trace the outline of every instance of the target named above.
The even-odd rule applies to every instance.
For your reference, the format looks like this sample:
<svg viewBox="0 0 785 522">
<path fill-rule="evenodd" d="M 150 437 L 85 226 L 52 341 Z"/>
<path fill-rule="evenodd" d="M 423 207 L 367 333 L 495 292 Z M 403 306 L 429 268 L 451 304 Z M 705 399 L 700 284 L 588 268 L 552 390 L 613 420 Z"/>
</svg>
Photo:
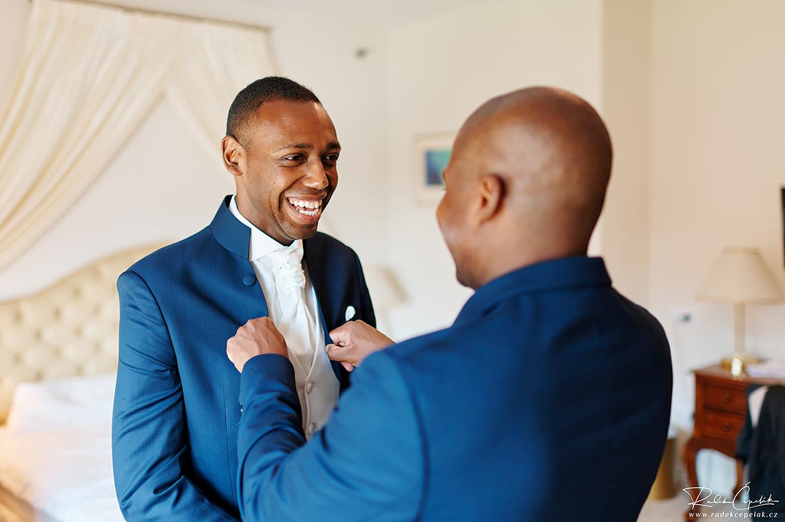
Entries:
<svg viewBox="0 0 785 522">
<path fill-rule="evenodd" d="M 747 396 L 759 387 L 749 386 Z M 736 459 L 750 466 L 750 510 L 785 513 L 785 386 L 769 386 L 758 426 L 752 426 L 747 411 L 747 422 L 736 440 Z M 769 496 L 773 506 L 761 506 L 760 499 Z"/>
</svg>

